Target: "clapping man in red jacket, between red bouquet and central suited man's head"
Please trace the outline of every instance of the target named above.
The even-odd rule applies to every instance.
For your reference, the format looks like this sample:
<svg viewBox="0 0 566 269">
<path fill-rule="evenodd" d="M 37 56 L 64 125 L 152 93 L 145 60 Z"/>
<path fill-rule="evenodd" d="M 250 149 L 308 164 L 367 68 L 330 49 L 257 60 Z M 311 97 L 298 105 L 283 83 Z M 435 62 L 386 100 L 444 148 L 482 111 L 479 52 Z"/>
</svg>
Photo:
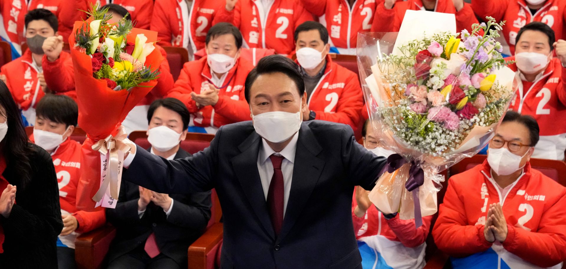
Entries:
<svg viewBox="0 0 566 269">
<path fill-rule="evenodd" d="M 240 57 L 242 34 L 234 25 L 218 23 L 207 33 L 207 55 L 185 63 L 166 97 L 181 100 L 189 112 L 190 132 L 216 133 L 229 123 L 250 120 L 244 83 L 254 68 Z"/>
</svg>

